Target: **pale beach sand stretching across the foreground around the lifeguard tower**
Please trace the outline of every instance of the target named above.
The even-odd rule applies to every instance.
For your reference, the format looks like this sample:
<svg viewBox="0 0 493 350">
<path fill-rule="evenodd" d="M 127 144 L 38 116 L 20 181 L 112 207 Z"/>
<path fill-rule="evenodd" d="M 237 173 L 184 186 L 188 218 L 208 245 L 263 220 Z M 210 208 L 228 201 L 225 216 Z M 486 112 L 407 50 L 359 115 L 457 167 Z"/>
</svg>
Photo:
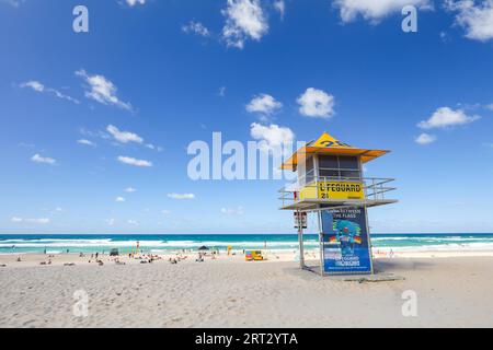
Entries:
<svg viewBox="0 0 493 350">
<path fill-rule="evenodd" d="M 493 257 L 378 258 L 401 281 L 348 282 L 298 269 L 287 256 L 246 262 L 238 255 L 179 264 L 104 266 L 61 255 L 0 256 L 0 327 L 493 327 Z M 472 256 L 471 256 L 472 255 Z M 293 256 L 291 256 L 293 259 Z M 64 266 L 66 262 L 76 266 Z M 73 315 L 76 291 L 89 296 Z M 417 296 L 404 317 L 402 293 Z"/>
</svg>

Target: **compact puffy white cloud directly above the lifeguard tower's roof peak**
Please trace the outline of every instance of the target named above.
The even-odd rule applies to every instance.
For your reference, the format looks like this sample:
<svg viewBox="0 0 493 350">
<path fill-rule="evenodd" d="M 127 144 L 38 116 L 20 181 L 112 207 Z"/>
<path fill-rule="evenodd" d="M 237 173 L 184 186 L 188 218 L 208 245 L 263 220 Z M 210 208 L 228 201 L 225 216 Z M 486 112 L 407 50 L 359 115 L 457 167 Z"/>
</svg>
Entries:
<svg viewBox="0 0 493 350">
<path fill-rule="evenodd" d="M 297 102 L 299 113 L 307 117 L 330 118 L 334 114 L 334 96 L 322 90 L 309 88 Z"/>
</svg>

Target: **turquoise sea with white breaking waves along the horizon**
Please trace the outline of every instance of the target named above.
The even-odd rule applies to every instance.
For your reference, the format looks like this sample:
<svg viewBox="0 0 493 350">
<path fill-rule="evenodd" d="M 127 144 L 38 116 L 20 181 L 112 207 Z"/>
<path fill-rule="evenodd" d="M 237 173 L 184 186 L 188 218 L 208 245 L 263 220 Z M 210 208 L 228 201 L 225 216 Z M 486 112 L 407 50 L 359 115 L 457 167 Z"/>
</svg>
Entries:
<svg viewBox="0 0 493 350">
<path fill-rule="evenodd" d="M 95 253 L 118 248 L 130 252 L 140 242 L 147 252 L 197 249 L 205 245 L 226 249 L 297 248 L 295 234 L 204 234 L 204 235 L 0 235 L 0 254 L 24 253 Z M 318 235 L 305 235 L 306 248 L 318 247 Z M 493 250 L 493 234 L 372 234 L 375 248 L 387 250 Z"/>
</svg>

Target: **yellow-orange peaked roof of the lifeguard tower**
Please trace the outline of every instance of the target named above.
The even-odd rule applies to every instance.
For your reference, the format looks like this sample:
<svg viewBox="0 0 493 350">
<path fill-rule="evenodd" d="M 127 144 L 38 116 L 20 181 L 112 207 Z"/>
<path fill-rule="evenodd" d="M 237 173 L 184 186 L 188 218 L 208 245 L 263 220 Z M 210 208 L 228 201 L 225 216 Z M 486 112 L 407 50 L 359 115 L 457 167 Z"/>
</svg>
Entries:
<svg viewBox="0 0 493 350">
<path fill-rule="evenodd" d="M 366 150 L 352 147 L 347 143 L 341 142 L 331 135 L 323 132 L 317 141 L 311 141 L 307 145 L 296 151 L 286 162 L 280 165 L 282 170 L 296 171 L 298 165 L 298 155 L 303 154 L 329 154 L 329 155 L 353 155 L 359 156 L 363 163 L 372 161 L 383 154 L 389 153 L 386 150 Z"/>
</svg>

